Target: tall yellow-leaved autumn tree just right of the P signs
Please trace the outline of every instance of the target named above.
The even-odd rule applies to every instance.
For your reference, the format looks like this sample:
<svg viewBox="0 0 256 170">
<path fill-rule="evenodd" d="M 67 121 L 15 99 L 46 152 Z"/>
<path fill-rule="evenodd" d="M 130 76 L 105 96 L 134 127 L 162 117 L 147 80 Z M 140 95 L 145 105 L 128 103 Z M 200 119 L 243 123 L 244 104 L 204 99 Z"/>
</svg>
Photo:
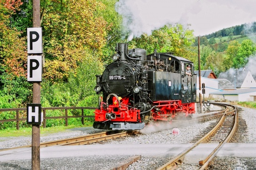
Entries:
<svg viewBox="0 0 256 170">
<path fill-rule="evenodd" d="M 43 76 L 51 81 L 67 81 L 69 73 L 75 73 L 85 57 L 85 51 L 102 53 L 109 27 L 97 11 L 104 5 L 96 0 L 45 0 L 44 3 Z"/>
</svg>

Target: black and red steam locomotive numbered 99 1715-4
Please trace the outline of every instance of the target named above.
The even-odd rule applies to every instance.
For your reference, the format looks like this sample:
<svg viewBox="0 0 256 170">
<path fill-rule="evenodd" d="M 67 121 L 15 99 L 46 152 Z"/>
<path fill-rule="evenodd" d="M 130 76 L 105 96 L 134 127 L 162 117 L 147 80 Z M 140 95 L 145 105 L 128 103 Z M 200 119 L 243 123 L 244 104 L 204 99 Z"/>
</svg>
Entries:
<svg viewBox="0 0 256 170">
<path fill-rule="evenodd" d="M 193 62 L 173 53 L 146 54 L 119 43 L 113 62 L 96 75 L 95 129 L 140 130 L 153 121 L 171 122 L 195 113 L 196 75 Z M 186 66 L 191 66 L 191 75 Z"/>
</svg>

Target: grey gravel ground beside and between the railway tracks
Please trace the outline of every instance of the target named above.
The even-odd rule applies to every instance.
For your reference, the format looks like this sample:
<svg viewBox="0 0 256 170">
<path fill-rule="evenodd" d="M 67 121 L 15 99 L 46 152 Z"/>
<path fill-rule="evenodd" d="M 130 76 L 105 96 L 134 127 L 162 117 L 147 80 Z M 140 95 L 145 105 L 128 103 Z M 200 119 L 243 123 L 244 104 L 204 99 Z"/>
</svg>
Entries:
<svg viewBox="0 0 256 170">
<path fill-rule="evenodd" d="M 240 107 L 240 116 L 246 121 L 248 126 L 248 136 L 245 143 L 256 143 L 256 110 L 250 108 Z M 211 110 L 217 108 L 211 108 Z M 195 114 L 194 116 L 201 116 L 202 114 Z M 212 121 L 205 122 L 203 124 L 188 124 L 178 127 L 179 135 L 172 134 L 171 125 L 163 125 L 157 128 L 151 126 L 141 131 L 143 134 L 136 138 L 127 138 L 125 140 L 109 140 L 106 143 L 118 143 L 118 144 L 147 144 L 147 143 L 189 143 L 199 132 L 203 131 Z M 160 131 L 161 130 L 161 131 Z M 160 131 L 160 132 L 158 132 Z M 76 136 L 82 136 L 86 134 L 92 134 L 101 132 L 101 130 L 95 130 L 92 127 L 76 128 L 66 130 L 61 133 L 54 133 L 50 135 L 42 135 L 41 142 L 71 138 Z M 0 138 L 0 149 L 7 147 L 17 147 L 23 145 L 30 145 L 31 137 L 19 137 L 19 138 Z M 104 144 L 95 144 L 104 145 Z M 86 156 L 86 157 L 69 157 L 69 158 L 51 158 L 40 159 L 41 170 L 109 170 L 115 166 L 118 162 L 122 162 L 131 155 L 116 155 L 116 156 Z M 163 157 L 145 157 L 132 165 L 127 170 L 154 170 L 161 166 L 164 162 L 167 162 L 170 158 Z M 115 160 L 115 161 L 113 161 Z M 213 170 L 255 170 L 256 158 L 223 158 L 216 157 L 215 166 Z M 0 162 L 0 170 L 31 170 L 31 160 L 23 161 L 9 161 Z M 196 170 L 199 169 L 198 164 L 181 164 L 177 170 Z"/>
</svg>

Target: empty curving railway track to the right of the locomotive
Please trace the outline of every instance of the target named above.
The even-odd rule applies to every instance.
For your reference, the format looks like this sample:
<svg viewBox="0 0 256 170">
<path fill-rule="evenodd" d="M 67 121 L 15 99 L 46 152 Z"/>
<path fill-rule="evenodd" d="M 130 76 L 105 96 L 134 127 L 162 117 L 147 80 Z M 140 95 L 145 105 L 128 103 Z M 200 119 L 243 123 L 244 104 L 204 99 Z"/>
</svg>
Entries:
<svg viewBox="0 0 256 170">
<path fill-rule="evenodd" d="M 212 103 L 215 104 L 215 103 Z M 221 105 L 217 103 L 217 105 Z M 223 105 L 225 108 L 223 111 L 216 115 L 222 115 L 217 124 L 201 139 L 194 143 L 190 148 L 187 148 L 181 154 L 177 155 L 169 162 L 165 163 L 163 166 L 159 167 L 157 170 L 174 170 L 177 167 L 177 164 L 182 163 L 185 155 L 189 153 L 194 147 L 197 147 L 200 143 L 219 143 L 218 146 L 202 161 L 199 161 L 199 164 L 202 165 L 200 170 L 207 169 L 210 162 L 213 160 L 217 152 L 224 146 L 225 143 L 229 142 L 233 134 L 238 128 L 238 113 L 235 106 L 232 105 Z M 212 118 L 212 116 L 209 116 Z M 207 116 L 204 118 L 208 118 Z M 204 119 L 199 118 L 199 119 Z M 192 120 L 194 121 L 194 120 Z"/>
</svg>

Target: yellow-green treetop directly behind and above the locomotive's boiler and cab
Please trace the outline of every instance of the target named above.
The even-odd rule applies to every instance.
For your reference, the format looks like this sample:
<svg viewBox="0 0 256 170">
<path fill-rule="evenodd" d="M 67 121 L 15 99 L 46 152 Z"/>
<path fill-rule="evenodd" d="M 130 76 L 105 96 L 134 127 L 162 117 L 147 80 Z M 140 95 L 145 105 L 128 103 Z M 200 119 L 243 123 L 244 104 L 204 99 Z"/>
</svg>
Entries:
<svg viewBox="0 0 256 170">
<path fill-rule="evenodd" d="M 158 49 L 161 52 L 174 52 L 188 60 L 195 60 L 196 54 L 188 50 L 194 43 L 193 31 L 184 30 L 181 24 L 165 25 L 148 36 L 143 34 L 140 38 L 134 38 L 130 42 L 130 48 L 140 47 L 147 50 L 147 54 Z"/>
</svg>

